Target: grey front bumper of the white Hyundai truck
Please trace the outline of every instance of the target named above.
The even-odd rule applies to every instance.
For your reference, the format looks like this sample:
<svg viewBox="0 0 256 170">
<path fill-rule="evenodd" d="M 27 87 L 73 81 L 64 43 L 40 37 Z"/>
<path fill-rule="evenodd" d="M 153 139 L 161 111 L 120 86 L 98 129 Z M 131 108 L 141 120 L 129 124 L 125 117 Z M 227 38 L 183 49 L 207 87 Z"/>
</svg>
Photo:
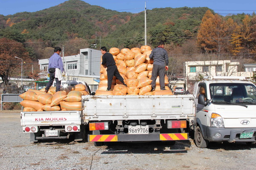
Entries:
<svg viewBox="0 0 256 170">
<path fill-rule="evenodd" d="M 207 138 L 212 142 L 255 142 L 256 127 L 247 128 L 225 128 L 225 127 L 206 127 Z M 239 139 L 240 134 L 243 132 L 254 132 L 252 138 Z M 216 134 L 221 134 L 220 137 L 216 137 Z M 218 135 L 217 135 L 218 136 Z"/>
</svg>

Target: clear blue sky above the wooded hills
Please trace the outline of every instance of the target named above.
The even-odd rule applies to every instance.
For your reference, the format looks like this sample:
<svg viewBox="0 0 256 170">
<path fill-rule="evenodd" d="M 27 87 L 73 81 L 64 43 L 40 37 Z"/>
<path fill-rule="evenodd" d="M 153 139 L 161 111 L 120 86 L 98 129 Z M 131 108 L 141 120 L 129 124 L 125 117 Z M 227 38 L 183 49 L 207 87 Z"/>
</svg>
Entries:
<svg viewBox="0 0 256 170">
<path fill-rule="evenodd" d="M 0 14 L 9 15 L 18 12 L 35 12 L 56 6 L 67 0 L 0 0 Z M 152 8 L 208 7 L 221 15 L 252 14 L 256 12 L 256 0 L 83 0 L 90 5 L 119 12 L 138 13 Z"/>
</svg>

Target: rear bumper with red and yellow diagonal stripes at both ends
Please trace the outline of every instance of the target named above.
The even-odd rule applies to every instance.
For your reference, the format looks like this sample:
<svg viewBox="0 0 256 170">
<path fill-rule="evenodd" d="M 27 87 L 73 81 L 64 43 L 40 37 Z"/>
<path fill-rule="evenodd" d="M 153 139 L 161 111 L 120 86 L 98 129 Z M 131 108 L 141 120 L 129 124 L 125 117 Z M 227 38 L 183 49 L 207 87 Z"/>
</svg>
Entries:
<svg viewBox="0 0 256 170">
<path fill-rule="evenodd" d="M 89 142 L 143 142 L 188 140 L 188 133 L 88 135 Z"/>
</svg>

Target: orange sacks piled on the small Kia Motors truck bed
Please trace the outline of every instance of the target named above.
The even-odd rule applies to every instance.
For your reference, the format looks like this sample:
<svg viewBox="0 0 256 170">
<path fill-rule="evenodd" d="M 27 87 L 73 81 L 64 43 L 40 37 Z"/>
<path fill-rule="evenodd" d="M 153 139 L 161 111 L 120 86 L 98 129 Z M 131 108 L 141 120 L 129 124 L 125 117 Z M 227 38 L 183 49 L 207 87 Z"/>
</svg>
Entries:
<svg viewBox="0 0 256 170">
<path fill-rule="evenodd" d="M 56 93 L 55 88 L 51 87 L 48 94 L 29 89 L 20 95 L 23 99 L 20 105 L 24 107 L 23 111 L 81 111 L 81 96 L 87 94 L 87 88 L 83 84 L 61 88 Z"/>
</svg>

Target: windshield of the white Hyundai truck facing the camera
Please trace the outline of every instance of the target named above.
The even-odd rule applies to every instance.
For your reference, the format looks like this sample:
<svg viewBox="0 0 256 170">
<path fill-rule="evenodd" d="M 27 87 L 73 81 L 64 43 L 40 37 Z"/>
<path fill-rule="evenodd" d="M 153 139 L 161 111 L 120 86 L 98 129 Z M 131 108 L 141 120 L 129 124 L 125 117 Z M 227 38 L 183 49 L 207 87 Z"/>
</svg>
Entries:
<svg viewBox="0 0 256 170">
<path fill-rule="evenodd" d="M 256 105 L 256 87 L 253 84 L 213 83 L 210 84 L 212 103 Z"/>
</svg>

